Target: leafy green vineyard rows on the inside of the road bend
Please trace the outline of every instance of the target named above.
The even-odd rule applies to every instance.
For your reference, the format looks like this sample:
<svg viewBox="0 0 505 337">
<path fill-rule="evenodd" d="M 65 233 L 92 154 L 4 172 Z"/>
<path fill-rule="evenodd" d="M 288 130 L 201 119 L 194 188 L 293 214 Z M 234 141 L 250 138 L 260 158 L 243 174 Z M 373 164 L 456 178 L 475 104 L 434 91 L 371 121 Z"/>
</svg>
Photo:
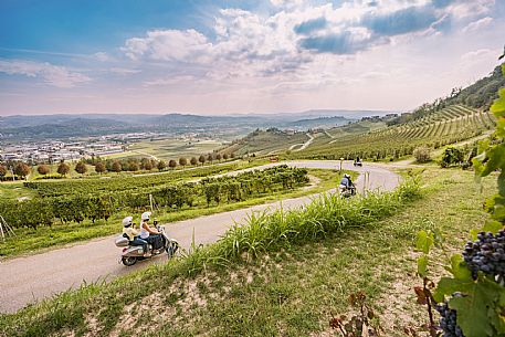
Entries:
<svg viewBox="0 0 505 337">
<path fill-rule="evenodd" d="M 51 225 L 54 221 L 81 223 L 86 219 L 93 222 L 107 220 L 116 211 L 145 210 L 151 203 L 160 211 L 168 212 L 182 207 L 232 203 L 291 190 L 308 182 L 305 169 L 287 166 L 248 171 L 234 177 L 206 178 L 199 182 L 168 183 L 169 179 L 165 178 L 164 181 L 160 176 L 169 175 L 136 177 L 135 186 L 139 186 L 137 179 L 145 179 L 140 183 L 141 188 L 134 188 L 134 182 L 125 178 L 105 180 L 99 186 L 102 189 L 93 189 L 90 185 L 102 183 L 101 181 L 67 181 L 73 183 L 71 186 L 63 182 L 27 182 L 28 187 L 36 188 L 42 197 L 22 202 L 2 200 L 0 214 L 14 228 L 36 229 Z"/>
</svg>

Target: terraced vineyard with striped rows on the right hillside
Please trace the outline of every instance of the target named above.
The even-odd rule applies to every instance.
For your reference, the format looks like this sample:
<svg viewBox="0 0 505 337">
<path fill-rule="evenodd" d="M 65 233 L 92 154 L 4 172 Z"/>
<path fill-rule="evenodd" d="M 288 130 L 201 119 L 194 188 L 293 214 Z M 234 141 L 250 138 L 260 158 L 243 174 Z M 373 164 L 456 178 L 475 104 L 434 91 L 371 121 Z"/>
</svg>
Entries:
<svg viewBox="0 0 505 337">
<path fill-rule="evenodd" d="M 314 159 L 350 159 L 356 156 L 367 159 L 399 158 L 411 155 L 421 145 L 439 148 L 478 136 L 491 130 L 494 124 L 495 119 L 488 112 L 453 105 L 411 123 L 314 144 L 292 156 Z"/>
</svg>

